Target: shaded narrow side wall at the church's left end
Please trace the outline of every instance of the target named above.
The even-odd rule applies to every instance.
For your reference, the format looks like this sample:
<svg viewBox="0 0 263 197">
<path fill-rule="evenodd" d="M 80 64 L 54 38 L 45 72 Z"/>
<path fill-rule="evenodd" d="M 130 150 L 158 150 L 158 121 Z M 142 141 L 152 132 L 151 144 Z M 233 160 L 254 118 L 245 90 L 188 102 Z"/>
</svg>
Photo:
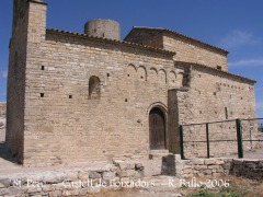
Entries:
<svg viewBox="0 0 263 197">
<path fill-rule="evenodd" d="M 23 161 L 25 66 L 28 33 L 27 1 L 15 0 L 13 30 L 9 54 L 5 143 L 13 155 Z"/>
</svg>

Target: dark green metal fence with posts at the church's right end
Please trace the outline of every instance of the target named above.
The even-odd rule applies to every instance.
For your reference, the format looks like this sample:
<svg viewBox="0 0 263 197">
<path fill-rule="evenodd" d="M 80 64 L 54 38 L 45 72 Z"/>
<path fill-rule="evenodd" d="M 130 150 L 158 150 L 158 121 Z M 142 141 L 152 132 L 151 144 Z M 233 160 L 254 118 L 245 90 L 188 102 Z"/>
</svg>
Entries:
<svg viewBox="0 0 263 197">
<path fill-rule="evenodd" d="M 263 118 L 231 119 L 180 126 L 182 159 L 244 157 L 263 148 Z"/>
</svg>

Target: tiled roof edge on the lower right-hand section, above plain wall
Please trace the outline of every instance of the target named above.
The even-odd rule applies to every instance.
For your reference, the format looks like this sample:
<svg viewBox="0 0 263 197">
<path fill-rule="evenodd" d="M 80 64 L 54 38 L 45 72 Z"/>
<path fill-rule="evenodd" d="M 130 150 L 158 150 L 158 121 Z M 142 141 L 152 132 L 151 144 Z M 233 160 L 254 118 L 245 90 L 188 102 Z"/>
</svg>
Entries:
<svg viewBox="0 0 263 197">
<path fill-rule="evenodd" d="M 208 70 L 213 70 L 217 73 L 221 73 L 226 77 L 231 77 L 231 78 L 235 78 L 235 79 L 239 79 L 241 81 L 245 81 L 245 82 L 249 82 L 249 83 L 256 83 L 256 81 L 252 80 L 252 79 L 249 79 L 249 78 L 244 78 L 242 76 L 238 76 L 238 74 L 233 74 L 233 73 L 230 73 L 230 72 L 227 72 L 227 71 L 224 71 L 224 70 L 218 70 L 218 69 L 215 69 L 215 68 L 211 68 L 211 67 L 208 67 L 208 66 L 205 66 L 205 65 L 199 65 L 199 63 L 195 63 L 195 62 L 184 62 L 184 61 L 175 61 L 175 65 L 178 66 L 194 66 L 194 67 L 199 67 L 199 68 L 204 68 L 204 69 L 208 69 Z"/>
</svg>

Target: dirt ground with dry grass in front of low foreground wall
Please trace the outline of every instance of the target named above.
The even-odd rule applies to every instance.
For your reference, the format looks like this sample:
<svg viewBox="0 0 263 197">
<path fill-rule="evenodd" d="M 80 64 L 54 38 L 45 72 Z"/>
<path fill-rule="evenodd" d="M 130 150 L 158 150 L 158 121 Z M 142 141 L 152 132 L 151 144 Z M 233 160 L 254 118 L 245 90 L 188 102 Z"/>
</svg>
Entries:
<svg viewBox="0 0 263 197">
<path fill-rule="evenodd" d="M 122 189 L 122 190 L 105 190 L 99 194 L 90 195 L 92 197 L 180 197 L 180 196 L 191 196 L 193 194 L 198 194 L 202 190 L 207 190 L 209 193 L 218 194 L 221 196 L 229 197 L 262 197 L 263 196 L 263 181 L 253 181 L 243 177 L 236 176 L 224 176 L 214 179 L 225 181 L 229 185 L 220 187 L 176 187 L 176 188 L 155 188 L 155 189 Z M 190 179 L 191 182 L 191 179 Z M 195 182 L 209 182 L 209 179 L 198 179 Z M 220 182 L 222 183 L 222 182 Z M 201 193 L 202 194 L 202 193 Z M 224 195 L 222 195 L 224 194 Z M 203 195 L 199 195 L 203 196 Z"/>
</svg>

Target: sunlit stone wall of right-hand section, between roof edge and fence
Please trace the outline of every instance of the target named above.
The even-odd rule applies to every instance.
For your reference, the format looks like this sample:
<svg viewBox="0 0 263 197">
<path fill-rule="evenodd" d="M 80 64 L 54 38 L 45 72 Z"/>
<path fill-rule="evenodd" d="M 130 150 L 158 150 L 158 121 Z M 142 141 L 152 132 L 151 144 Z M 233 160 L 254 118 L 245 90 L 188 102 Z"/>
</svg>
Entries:
<svg viewBox="0 0 263 197">
<path fill-rule="evenodd" d="M 195 66 L 190 76 L 190 100 L 195 108 L 192 121 L 255 118 L 253 81 Z"/>
</svg>

